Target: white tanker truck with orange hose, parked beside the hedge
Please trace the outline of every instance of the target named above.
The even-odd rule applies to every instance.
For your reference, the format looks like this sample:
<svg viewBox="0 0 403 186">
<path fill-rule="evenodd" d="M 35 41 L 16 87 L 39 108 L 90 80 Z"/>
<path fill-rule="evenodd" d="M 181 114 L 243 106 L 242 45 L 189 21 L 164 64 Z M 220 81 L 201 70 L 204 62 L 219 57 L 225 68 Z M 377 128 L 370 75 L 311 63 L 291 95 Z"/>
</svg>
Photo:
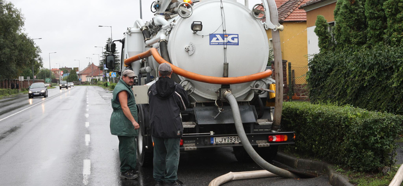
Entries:
<svg viewBox="0 0 403 186">
<path fill-rule="evenodd" d="M 106 57 L 108 69 L 130 68 L 138 75 L 132 89 L 142 166 L 153 160 L 148 88 L 158 80 L 161 63 L 171 65 L 172 79 L 183 86 L 190 101 L 181 111 L 181 151 L 232 147 L 238 161 L 248 161 L 243 145 L 249 143 L 271 161 L 279 145 L 294 143 L 294 132 L 275 126 L 275 109 L 266 106 L 276 96 L 272 70 L 265 70 L 269 55 L 265 30 L 282 29 L 270 21 L 276 7 L 269 13 L 266 0 L 252 10 L 235 0 L 155 0 L 151 11 L 151 20 L 133 20 L 123 39 L 107 44 L 113 53 L 115 42 L 121 43 L 121 60 L 114 61 L 113 54 Z"/>
</svg>

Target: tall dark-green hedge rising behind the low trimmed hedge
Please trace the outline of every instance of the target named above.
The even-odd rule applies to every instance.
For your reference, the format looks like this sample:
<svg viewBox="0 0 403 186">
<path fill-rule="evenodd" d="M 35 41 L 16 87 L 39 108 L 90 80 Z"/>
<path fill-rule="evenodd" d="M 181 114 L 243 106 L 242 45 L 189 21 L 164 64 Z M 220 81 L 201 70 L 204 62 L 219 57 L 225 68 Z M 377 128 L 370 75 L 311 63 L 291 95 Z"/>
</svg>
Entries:
<svg viewBox="0 0 403 186">
<path fill-rule="evenodd" d="M 309 61 L 313 103 L 352 105 L 403 115 L 403 50 L 382 43 L 373 48 L 321 52 Z"/>
</svg>

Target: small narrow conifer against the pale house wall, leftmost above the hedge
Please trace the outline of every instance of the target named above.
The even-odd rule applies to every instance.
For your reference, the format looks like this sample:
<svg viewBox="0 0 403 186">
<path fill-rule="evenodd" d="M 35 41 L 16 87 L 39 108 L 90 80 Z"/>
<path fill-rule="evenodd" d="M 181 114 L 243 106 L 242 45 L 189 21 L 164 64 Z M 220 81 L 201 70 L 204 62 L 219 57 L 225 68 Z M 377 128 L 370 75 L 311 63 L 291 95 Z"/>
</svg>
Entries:
<svg viewBox="0 0 403 186">
<path fill-rule="evenodd" d="M 327 24 L 327 20 L 323 16 L 318 15 L 315 26 L 314 32 L 319 39 L 318 45 L 320 51 L 331 50 L 333 48 L 333 42 L 329 33 L 329 24 Z"/>
</svg>

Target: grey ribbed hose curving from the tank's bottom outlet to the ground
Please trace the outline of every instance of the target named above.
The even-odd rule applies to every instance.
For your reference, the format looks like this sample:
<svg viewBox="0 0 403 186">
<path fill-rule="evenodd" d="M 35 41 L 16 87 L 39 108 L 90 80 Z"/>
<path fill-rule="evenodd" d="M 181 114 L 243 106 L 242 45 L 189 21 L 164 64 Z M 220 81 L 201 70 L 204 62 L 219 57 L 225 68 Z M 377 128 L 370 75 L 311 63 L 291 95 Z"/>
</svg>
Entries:
<svg viewBox="0 0 403 186">
<path fill-rule="evenodd" d="M 260 167 L 262 167 L 265 170 L 272 172 L 274 174 L 277 174 L 277 175 L 280 175 L 283 177 L 288 177 L 288 178 L 299 178 L 297 175 L 291 173 L 290 171 L 284 170 L 284 169 L 276 167 L 270 163 L 267 163 L 263 158 L 261 158 L 259 156 L 259 154 L 257 154 L 257 152 L 253 149 L 252 145 L 249 143 L 248 137 L 246 137 L 245 130 L 243 129 L 243 124 L 242 124 L 241 114 L 239 112 L 238 103 L 237 103 L 234 95 L 232 95 L 230 91 L 225 91 L 224 97 L 228 100 L 228 103 L 231 106 L 232 114 L 234 115 L 236 132 L 238 133 L 238 136 L 239 136 L 239 139 L 241 140 L 243 148 L 245 148 L 246 152 L 253 159 L 253 161 L 256 162 Z"/>
</svg>

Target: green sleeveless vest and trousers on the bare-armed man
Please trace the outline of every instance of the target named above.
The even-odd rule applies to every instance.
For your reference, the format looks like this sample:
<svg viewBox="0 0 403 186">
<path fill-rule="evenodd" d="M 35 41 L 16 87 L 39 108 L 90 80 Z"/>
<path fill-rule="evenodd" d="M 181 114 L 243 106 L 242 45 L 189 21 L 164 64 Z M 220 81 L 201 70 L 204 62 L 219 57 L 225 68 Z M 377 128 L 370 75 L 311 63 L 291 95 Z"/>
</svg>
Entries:
<svg viewBox="0 0 403 186">
<path fill-rule="evenodd" d="M 131 88 L 120 79 L 116 84 L 112 93 L 112 115 L 110 117 L 110 133 L 116 135 L 119 139 L 119 157 L 120 157 L 120 171 L 127 172 L 130 169 L 136 168 L 136 136 L 139 135 L 139 130 L 135 130 L 135 126 L 126 118 L 120 106 L 118 93 L 120 91 L 127 91 L 127 106 L 131 115 L 138 121 L 136 100 L 133 96 Z"/>
</svg>

